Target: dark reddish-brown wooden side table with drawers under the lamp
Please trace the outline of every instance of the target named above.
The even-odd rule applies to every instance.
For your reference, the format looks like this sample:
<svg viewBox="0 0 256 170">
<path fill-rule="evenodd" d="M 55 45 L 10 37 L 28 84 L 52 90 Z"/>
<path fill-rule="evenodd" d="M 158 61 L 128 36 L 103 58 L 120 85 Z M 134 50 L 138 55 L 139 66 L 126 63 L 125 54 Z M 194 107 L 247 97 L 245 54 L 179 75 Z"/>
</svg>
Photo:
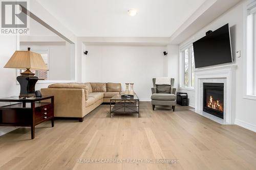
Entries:
<svg viewBox="0 0 256 170">
<path fill-rule="evenodd" d="M 31 127 L 31 139 L 36 125 L 51 120 L 54 127 L 54 96 L 2 98 L 0 104 L 0 126 Z"/>
</svg>

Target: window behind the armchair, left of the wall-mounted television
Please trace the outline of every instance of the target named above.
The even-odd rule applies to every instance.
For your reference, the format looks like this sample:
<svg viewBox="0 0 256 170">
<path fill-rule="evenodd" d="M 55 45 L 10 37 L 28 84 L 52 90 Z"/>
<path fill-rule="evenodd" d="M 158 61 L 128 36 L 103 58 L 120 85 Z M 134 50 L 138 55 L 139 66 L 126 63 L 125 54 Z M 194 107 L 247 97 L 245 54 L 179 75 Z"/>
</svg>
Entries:
<svg viewBox="0 0 256 170">
<path fill-rule="evenodd" d="M 181 86 L 194 88 L 195 86 L 195 60 L 192 45 L 187 45 L 180 52 Z"/>
</svg>

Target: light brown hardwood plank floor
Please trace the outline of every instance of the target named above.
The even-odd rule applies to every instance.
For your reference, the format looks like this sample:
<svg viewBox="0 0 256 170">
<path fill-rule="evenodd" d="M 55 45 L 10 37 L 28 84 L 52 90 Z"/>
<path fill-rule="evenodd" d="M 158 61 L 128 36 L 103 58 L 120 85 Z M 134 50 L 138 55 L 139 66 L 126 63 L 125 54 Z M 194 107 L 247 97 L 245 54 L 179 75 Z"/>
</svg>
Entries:
<svg viewBox="0 0 256 170">
<path fill-rule="evenodd" d="M 36 126 L 33 140 L 30 128 L 19 128 L 0 136 L 0 169 L 256 169 L 256 133 L 220 125 L 188 108 L 153 111 L 150 102 L 141 102 L 140 118 L 110 118 L 109 105 L 101 105 L 83 123 Z M 82 162 L 86 159 L 126 163 Z M 178 163 L 144 162 L 157 159 Z"/>
</svg>

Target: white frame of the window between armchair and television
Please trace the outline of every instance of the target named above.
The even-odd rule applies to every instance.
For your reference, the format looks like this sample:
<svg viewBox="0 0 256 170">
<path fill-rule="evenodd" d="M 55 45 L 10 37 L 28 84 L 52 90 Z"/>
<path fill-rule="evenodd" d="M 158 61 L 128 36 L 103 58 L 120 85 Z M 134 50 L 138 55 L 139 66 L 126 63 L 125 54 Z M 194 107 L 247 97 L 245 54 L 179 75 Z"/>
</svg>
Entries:
<svg viewBox="0 0 256 170">
<path fill-rule="evenodd" d="M 192 68 L 191 68 L 191 47 L 193 47 L 193 40 L 187 42 L 186 44 L 180 46 L 180 89 L 185 90 L 195 90 L 195 87 L 191 86 L 191 78 L 192 78 Z M 189 48 L 188 50 L 188 86 L 184 86 L 184 51 Z"/>
</svg>

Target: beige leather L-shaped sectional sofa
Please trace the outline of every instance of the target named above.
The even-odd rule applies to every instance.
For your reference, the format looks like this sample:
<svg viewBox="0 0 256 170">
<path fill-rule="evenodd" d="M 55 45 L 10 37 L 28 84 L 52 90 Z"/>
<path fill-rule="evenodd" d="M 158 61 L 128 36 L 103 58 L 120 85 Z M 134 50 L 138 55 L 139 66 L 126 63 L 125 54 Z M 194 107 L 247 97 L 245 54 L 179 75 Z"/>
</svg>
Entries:
<svg viewBox="0 0 256 170">
<path fill-rule="evenodd" d="M 120 92 L 120 83 L 57 83 L 41 89 L 42 95 L 54 95 L 54 117 L 77 117 L 79 122 Z"/>
</svg>

